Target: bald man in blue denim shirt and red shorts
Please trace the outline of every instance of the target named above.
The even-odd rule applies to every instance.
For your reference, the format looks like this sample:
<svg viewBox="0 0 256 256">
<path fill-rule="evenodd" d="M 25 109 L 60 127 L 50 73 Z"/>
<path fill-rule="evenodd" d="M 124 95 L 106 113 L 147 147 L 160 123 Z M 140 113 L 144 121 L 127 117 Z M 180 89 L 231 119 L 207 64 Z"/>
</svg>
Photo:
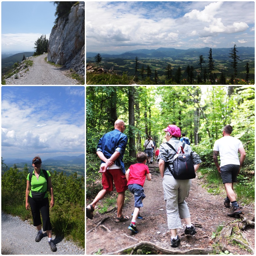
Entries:
<svg viewBox="0 0 256 256">
<path fill-rule="evenodd" d="M 127 144 L 127 136 L 124 134 L 125 124 L 121 119 L 116 120 L 115 130 L 106 133 L 100 138 L 96 154 L 101 159 L 100 171 L 102 173 L 103 189 L 94 198 L 91 204 L 86 207 L 86 216 L 93 218 L 95 205 L 108 193 L 114 190 L 115 183 L 117 196 L 117 217 L 116 222 L 129 220 L 128 216 L 123 215 L 124 195 L 127 187 L 125 177 L 125 167 L 123 162 L 124 151 Z"/>
</svg>

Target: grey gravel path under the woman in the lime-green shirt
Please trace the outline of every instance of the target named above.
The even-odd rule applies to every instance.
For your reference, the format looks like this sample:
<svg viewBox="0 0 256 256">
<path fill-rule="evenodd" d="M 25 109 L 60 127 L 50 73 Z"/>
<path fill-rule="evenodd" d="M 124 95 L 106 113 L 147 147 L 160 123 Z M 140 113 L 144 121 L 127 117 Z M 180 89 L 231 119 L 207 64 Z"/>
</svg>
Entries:
<svg viewBox="0 0 256 256">
<path fill-rule="evenodd" d="M 40 242 L 36 242 L 37 229 L 28 221 L 23 221 L 19 217 L 2 212 L 2 254 L 25 254 L 25 255 L 62 255 L 62 254 L 84 254 L 84 249 L 78 247 L 72 241 L 67 241 L 61 237 L 52 236 L 57 252 L 52 252 L 48 244 L 46 232 Z"/>
</svg>

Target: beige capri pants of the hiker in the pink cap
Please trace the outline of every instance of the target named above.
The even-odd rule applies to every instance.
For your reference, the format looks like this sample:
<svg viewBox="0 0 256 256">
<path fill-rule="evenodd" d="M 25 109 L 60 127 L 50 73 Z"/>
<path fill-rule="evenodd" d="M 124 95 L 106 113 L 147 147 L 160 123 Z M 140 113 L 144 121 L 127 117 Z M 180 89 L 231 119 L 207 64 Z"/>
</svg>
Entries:
<svg viewBox="0 0 256 256">
<path fill-rule="evenodd" d="M 175 180 L 172 175 L 164 175 L 164 201 L 169 229 L 181 227 L 180 219 L 189 218 L 190 213 L 185 198 L 188 197 L 191 180 Z"/>
</svg>

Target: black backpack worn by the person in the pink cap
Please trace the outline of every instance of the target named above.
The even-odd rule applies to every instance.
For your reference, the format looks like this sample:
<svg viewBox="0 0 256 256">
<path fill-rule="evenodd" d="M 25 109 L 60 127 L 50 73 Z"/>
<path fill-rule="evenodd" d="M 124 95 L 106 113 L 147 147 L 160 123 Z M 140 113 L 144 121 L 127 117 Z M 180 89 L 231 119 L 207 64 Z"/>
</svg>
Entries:
<svg viewBox="0 0 256 256">
<path fill-rule="evenodd" d="M 172 148 L 175 152 L 176 150 L 172 147 L 171 144 L 166 144 Z M 185 154 L 184 152 L 185 141 L 183 141 L 181 148 L 181 153 L 176 152 L 176 155 L 173 157 L 173 170 L 170 167 L 170 162 L 165 162 L 167 168 L 172 173 L 172 176 L 176 180 L 189 180 L 196 178 L 195 168 L 191 155 Z"/>
</svg>

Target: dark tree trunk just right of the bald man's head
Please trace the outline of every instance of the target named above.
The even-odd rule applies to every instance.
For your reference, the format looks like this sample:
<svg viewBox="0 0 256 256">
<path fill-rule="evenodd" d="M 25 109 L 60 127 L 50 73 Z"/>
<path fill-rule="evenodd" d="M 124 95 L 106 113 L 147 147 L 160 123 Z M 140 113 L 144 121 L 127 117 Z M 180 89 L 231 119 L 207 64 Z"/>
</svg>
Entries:
<svg viewBox="0 0 256 256">
<path fill-rule="evenodd" d="M 128 91 L 128 111 L 129 111 L 129 156 L 136 158 L 136 148 L 135 148 L 135 116 L 134 116 L 134 86 L 129 86 Z"/>
</svg>

